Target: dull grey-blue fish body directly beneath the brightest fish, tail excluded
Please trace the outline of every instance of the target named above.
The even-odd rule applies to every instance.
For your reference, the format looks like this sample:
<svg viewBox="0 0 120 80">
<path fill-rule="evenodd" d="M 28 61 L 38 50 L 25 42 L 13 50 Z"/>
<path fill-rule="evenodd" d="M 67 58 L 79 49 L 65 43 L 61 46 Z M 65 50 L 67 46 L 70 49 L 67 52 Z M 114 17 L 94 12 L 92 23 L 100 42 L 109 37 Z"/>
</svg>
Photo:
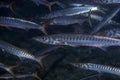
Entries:
<svg viewBox="0 0 120 80">
<path fill-rule="evenodd" d="M 75 16 L 63 16 L 63 17 L 57 17 L 51 20 L 50 25 L 70 25 L 70 24 L 82 24 L 87 19 L 83 19 L 80 17 Z"/>
</svg>

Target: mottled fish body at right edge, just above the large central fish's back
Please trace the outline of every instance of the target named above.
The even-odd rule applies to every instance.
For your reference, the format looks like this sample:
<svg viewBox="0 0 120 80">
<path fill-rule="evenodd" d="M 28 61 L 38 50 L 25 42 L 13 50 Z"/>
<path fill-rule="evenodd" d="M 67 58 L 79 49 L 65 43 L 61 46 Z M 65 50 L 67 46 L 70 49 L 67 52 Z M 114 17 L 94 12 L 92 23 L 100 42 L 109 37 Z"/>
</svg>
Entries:
<svg viewBox="0 0 120 80">
<path fill-rule="evenodd" d="M 99 31 L 96 35 L 120 38 L 120 28 L 111 28 Z"/>
</svg>

